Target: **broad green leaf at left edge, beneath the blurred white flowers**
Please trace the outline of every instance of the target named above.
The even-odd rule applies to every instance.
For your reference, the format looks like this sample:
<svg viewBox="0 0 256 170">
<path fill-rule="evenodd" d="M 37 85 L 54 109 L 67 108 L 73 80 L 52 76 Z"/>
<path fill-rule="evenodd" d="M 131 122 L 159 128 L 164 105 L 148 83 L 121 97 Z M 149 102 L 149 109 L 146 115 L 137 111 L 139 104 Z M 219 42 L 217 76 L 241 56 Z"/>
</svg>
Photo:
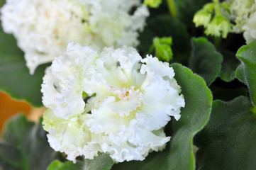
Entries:
<svg viewBox="0 0 256 170">
<path fill-rule="evenodd" d="M 1 28 L 0 51 L 0 90 L 11 94 L 13 98 L 26 100 L 33 106 L 43 106 L 40 89 L 47 65 L 38 67 L 31 76 L 16 40 Z"/>
</svg>

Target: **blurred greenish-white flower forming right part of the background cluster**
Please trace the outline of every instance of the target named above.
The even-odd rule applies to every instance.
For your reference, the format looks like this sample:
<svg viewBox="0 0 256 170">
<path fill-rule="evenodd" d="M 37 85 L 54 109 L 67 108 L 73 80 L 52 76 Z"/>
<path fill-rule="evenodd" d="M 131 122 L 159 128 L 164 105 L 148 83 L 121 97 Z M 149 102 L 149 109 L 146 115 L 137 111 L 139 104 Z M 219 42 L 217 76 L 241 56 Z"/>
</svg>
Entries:
<svg viewBox="0 0 256 170">
<path fill-rule="evenodd" d="M 99 47 L 138 45 L 138 32 L 145 26 L 148 8 L 140 0 L 87 0 L 89 26 Z M 132 15 L 133 6 L 138 6 Z"/>
</svg>

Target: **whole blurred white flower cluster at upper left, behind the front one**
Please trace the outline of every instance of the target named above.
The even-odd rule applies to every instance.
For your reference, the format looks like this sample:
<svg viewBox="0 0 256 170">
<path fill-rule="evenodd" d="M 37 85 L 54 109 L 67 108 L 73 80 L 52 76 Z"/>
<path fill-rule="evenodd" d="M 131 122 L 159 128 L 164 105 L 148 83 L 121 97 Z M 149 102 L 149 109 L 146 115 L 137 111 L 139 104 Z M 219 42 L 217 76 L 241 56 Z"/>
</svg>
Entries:
<svg viewBox="0 0 256 170">
<path fill-rule="evenodd" d="M 99 49 L 134 47 L 148 15 L 140 0 L 6 0 L 1 8 L 4 31 L 16 37 L 30 74 L 73 40 Z"/>
</svg>

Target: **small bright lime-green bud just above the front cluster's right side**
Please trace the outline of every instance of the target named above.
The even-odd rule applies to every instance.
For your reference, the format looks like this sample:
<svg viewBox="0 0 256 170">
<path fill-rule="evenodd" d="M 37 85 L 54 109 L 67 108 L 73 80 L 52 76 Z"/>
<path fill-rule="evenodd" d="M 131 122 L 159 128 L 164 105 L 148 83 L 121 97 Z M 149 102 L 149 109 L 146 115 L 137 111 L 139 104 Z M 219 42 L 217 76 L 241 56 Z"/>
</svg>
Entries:
<svg viewBox="0 0 256 170">
<path fill-rule="evenodd" d="M 155 49 L 155 56 L 163 61 L 169 62 L 172 60 L 172 38 L 154 38 L 153 45 L 150 47 L 150 51 Z"/>
</svg>

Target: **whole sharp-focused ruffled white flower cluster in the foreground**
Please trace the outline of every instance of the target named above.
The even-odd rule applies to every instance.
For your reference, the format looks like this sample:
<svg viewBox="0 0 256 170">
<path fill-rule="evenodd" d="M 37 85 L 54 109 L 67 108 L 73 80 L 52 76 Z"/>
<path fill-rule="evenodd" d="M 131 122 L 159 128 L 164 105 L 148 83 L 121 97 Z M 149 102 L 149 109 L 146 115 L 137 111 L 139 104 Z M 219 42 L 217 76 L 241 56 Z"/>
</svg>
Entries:
<svg viewBox="0 0 256 170">
<path fill-rule="evenodd" d="M 174 70 L 156 57 L 142 59 L 132 47 L 99 54 L 69 43 L 43 78 L 43 127 L 50 146 L 67 159 L 98 152 L 116 162 L 143 160 L 165 148 L 163 128 L 180 118 L 184 97 Z"/>
</svg>

